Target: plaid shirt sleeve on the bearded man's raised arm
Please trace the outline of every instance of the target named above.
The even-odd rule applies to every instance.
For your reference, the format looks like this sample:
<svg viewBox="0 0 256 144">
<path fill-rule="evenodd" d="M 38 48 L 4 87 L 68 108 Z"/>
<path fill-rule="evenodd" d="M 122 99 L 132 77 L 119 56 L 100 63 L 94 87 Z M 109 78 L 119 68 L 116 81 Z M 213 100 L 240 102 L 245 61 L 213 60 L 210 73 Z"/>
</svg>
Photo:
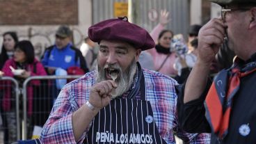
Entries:
<svg viewBox="0 0 256 144">
<path fill-rule="evenodd" d="M 70 96 L 66 86 L 58 95 L 53 109 L 45 123 L 40 140 L 42 143 L 76 143 L 72 127 L 72 113 L 77 111 L 78 106 Z M 86 132 L 81 136 L 78 143 L 82 143 Z"/>
</svg>

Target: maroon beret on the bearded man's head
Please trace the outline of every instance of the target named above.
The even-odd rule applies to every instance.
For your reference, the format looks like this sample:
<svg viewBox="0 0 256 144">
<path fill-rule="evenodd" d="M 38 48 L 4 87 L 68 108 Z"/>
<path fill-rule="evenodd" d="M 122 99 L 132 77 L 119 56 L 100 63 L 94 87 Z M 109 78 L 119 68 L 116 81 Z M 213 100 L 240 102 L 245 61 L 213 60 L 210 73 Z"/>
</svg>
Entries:
<svg viewBox="0 0 256 144">
<path fill-rule="evenodd" d="M 141 50 L 151 49 L 155 46 L 150 34 L 140 26 L 128 22 L 127 17 L 108 19 L 90 26 L 88 37 L 98 43 L 101 40 L 121 40 Z"/>
</svg>

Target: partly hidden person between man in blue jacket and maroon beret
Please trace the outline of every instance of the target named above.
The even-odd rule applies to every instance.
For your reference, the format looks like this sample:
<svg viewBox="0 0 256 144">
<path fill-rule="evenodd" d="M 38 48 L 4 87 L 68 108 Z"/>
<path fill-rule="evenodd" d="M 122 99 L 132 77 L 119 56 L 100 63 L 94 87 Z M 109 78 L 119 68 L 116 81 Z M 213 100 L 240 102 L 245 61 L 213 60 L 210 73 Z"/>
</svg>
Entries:
<svg viewBox="0 0 256 144">
<path fill-rule="evenodd" d="M 86 65 L 90 71 L 93 69 L 93 62 L 97 58 L 97 54 L 95 54 L 94 48 L 95 42 L 90 40 L 88 37 L 84 39 L 84 42 L 80 47 L 80 51 L 83 54 L 83 57 L 86 58 Z"/>
</svg>

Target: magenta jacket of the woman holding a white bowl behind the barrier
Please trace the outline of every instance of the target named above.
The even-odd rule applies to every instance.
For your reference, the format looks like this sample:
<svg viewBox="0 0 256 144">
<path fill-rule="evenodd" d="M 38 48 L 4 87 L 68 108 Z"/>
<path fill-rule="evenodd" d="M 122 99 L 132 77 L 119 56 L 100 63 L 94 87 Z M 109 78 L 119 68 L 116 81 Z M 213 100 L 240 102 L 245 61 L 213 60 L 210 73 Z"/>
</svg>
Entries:
<svg viewBox="0 0 256 144">
<path fill-rule="evenodd" d="M 6 61 L 6 63 L 3 65 L 2 71 L 4 72 L 4 76 L 6 77 L 14 77 L 13 72 L 10 70 L 10 66 L 17 68 L 17 65 L 15 61 L 12 59 Z M 35 67 L 35 69 L 34 69 Z M 34 72 L 35 70 L 35 72 Z M 31 72 L 31 76 L 45 76 L 47 73 L 45 72 L 45 68 L 42 66 L 42 63 L 40 61 L 34 59 L 33 63 L 26 65 L 26 71 Z M 3 81 L 7 85 L 2 85 L 3 88 L 5 88 L 5 93 L 3 95 L 3 111 L 10 111 L 11 108 L 11 87 L 10 87 L 10 81 Z M 29 86 L 27 87 L 27 99 L 28 99 L 28 115 L 32 114 L 32 106 L 33 106 L 33 86 L 39 86 L 40 80 L 33 80 L 30 82 Z M 7 87 L 5 87 L 7 86 Z"/>
</svg>

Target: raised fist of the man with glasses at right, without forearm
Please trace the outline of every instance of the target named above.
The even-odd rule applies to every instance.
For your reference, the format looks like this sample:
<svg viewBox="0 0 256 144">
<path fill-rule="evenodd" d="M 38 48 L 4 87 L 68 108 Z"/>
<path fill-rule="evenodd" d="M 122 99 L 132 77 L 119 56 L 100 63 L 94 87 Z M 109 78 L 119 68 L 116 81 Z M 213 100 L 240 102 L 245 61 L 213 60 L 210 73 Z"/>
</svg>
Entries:
<svg viewBox="0 0 256 144">
<path fill-rule="evenodd" d="M 211 19 L 198 34 L 198 61 L 210 65 L 224 42 L 226 25 L 221 19 Z"/>
</svg>

